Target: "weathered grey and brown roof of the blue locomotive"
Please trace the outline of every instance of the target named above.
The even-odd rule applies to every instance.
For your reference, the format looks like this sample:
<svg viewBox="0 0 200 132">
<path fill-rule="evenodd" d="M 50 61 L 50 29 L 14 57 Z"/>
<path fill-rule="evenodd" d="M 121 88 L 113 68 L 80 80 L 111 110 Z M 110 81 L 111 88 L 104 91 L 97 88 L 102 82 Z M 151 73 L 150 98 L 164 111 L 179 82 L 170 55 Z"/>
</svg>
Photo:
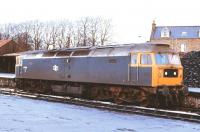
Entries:
<svg viewBox="0 0 200 132">
<path fill-rule="evenodd" d="M 22 55 L 53 57 L 53 56 L 127 56 L 130 52 L 174 52 L 168 44 L 141 43 L 107 46 L 88 46 L 66 48 L 60 50 L 37 50 L 22 52 Z"/>
</svg>

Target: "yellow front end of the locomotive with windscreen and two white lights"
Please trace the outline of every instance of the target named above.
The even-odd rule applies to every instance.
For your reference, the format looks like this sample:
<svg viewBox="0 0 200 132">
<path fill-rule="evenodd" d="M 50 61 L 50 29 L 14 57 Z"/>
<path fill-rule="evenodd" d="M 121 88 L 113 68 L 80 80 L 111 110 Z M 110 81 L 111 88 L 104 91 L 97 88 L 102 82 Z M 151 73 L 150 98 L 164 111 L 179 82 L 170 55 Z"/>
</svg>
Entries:
<svg viewBox="0 0 200 132">
<path fill-rule="evenodd" d="M 178 54 L 154 53 L 152 86 L 181 86 L 183 67 Z"/>
</svg>

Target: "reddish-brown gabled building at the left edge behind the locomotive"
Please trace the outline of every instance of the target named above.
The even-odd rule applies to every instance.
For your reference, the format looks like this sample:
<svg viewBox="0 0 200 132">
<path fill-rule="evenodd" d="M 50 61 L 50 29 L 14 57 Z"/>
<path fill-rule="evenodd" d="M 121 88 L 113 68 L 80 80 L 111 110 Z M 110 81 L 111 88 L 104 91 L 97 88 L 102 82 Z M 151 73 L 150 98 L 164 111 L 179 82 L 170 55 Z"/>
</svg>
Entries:
<svg viewBox="0 0 200 132">
<path fill-rule="evenodd" d="M 17 43 L 11 39 L 0 40 L 0 55 L 17 52 Z"/>
</svg>

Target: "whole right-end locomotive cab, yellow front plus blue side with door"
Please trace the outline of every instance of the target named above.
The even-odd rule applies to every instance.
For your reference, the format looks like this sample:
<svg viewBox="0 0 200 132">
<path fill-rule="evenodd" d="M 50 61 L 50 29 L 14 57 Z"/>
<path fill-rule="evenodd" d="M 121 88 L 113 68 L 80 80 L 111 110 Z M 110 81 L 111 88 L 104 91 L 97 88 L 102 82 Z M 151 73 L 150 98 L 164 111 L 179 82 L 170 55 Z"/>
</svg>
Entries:
<svg viewBox="0 0 200 132">
<path fill-rule="evenodd" d="M 183 67 L 175 53 L 131 53 L 129 80 L 151 87 L 181 86 Z"/>
</svg>

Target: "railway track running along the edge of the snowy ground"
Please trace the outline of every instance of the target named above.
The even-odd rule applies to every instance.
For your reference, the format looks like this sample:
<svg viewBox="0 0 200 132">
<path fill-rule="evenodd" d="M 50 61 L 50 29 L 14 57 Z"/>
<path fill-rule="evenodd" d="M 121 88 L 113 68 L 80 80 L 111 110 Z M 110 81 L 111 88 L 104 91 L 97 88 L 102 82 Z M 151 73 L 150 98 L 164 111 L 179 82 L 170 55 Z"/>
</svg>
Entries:
<svg viewBox="0 0 200 132">
<path fill-rule="evenodd" d="M 54 96 L 54 95 L 46 95 L 46 94 L 28 93 L 28 92 L 23 92 L 21 90 L 10 89 L 10 88 L 0 88 L 0 93 L 6 94 L 6 95 L 21 96 L 21 97 L 26 97 L 26 98 L 31 98 L 31 99 L 39 99 L 39 100 L 68 103 L 68 104 L 74 104 L 74 105 L 80 105 L 80 106 L 87 106 L 87 107 L 99 108 L 103 110 L 133 113 L 133 114 L 140 114 L 140 115 L 146 115 L 146 116 L 154 116 L 154 117 L 200 123 L 200 114 L 195 113 L 195 112 L 163 110 L 163 109 L 146 108 L 146 107 L 132 106 L 132 105 L 118 105 L 118 104 L 110 103 L 110 102 L 86 100 L 86 99 L 72 98 L 72 97 L 66 97 L 66 96 Z"/>
</svg>

